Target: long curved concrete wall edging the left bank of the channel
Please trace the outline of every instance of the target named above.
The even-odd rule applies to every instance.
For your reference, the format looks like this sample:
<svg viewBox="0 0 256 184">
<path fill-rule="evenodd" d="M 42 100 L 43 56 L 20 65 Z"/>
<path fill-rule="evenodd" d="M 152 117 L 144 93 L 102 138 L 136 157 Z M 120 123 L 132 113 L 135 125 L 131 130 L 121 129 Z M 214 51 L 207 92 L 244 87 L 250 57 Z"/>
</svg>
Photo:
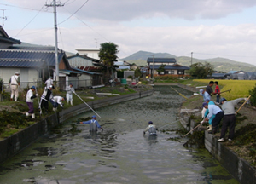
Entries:
<svg viewBox="0 0 256 184">
<path fill-rule="evenodd" d="M 97 109 L 103 106 L 110 106 L 123 101 L 131 101 L 138 98 L 142 98 L 148 95 L 152 95 L 153 90 L 143 91 L 136 94 L 114 96 L 107 99 L 90 101 L 87 104 L 93 109 Z M 36 141 L 40 136 L 45 135 L 50 129 L 54 128 L 56 125 L 64 122 L 68 118 L 72 118 L 80 113 L 90 111 L 90 108 L 84 103 L 78 106 L 72 106 L 61 112 L 56 112 L 55 114 L 44 118 L 36 124 L 32 124 L 26 129 L 21 130 L 15 135 L 11 135 L 8 138 L 0 141 L 0 163 L 3 163 L 8 158 L 13 157 L 17 152 L 30 145 L 33 141 Z"/>
</svg>

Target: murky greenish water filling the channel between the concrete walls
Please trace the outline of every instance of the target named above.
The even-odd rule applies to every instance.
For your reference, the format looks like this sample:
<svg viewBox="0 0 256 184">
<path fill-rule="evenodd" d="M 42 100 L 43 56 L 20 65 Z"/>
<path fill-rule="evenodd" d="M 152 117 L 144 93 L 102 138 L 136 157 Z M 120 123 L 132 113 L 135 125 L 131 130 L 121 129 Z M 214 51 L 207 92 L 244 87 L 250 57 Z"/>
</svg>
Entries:
<svg viewBox="0 0 256 184">
<path fill-rule="evenodd" d="M 182 101 L 162 86 L 152 96 L 96 109 L 104 131 L 94 135 L 83 124 L 79 133 L 68 131 L 92 112 L 70 119 L 1 165 L 0 183 L 238 183 L 207 151 L 184 148 L 185 139 L 167 141 L 178 136 L 174 132 L 143 136 L 150 120 L 179 129 Z"/>
</svg>

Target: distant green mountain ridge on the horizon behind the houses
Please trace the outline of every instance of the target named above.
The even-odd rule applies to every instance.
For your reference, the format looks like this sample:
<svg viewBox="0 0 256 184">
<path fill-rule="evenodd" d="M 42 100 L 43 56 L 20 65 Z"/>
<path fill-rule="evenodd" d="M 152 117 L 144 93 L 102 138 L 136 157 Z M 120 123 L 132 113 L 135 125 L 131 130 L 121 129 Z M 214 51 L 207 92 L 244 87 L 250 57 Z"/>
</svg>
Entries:
<svg viewBox="0 0 256 184">
<path fill-rule="evenodd" d="M 151 52 L 146 52 L 146 51 L 138 51 L 137 53 L 130 55 L 128 57 L 125 57 L 120 60 L 125 60 L 127 62 L 135 63 L 138 66 L 147 66 L 147 59 L 148 57 L 172 57 L 177 60 L 177 63 L 183 66 L 190 66 L 191 65 L 191 57 L 187 56 L 180 56 L 177 57 L 175 55 L 171 55 L 168 53 L 151 53 Z M 256 72 L 256 66 L 243 63 L 243 62 L 238 62 L 235 60 L 229 60 L 226 58 L 212 58 L 212 59 L 206 59 L 206 60 L 199 60 L 196 58 L 192 58 L 192 63 L 195 62 L 209 62 L 214 66 L 214 69 L 216 71 L 221 71 L 221 72 L 230 72 L 230 71 L 245 71 L 245 72 Z"/>
</svg>

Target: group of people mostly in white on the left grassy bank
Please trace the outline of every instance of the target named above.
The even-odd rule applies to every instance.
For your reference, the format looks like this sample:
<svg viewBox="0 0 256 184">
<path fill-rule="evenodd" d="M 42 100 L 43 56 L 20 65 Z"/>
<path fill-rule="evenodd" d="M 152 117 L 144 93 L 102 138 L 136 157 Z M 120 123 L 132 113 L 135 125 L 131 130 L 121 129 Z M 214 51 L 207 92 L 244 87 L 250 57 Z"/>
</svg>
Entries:
<svg viewBox="0 0 256 184">
<path fill-rule="evenodd" d="M 73 92 L 74 92 L 73 83 L 70 83 L 67 86 L 66 97 L 62 97 L 59 95 L 53 96 L 52 90 L 55 89 L 55 87 L 54 87 L 52 77 L 49 77 L 44 84 L 45 84 L 44 92 L 41 95 L 40 102 L 39 102 L 40 112 L 44 110 L 46 113 L 48 113 L 49 101 L 53 106 L 53 111 L 57 111 L 58 106 L 63 107 L 64 105 L 63 101 L 65 100 L 67 100 L 67 104 L 70 102 L 71 106 L 73 106 Z M 20 87 L 20 73 L 15 72 L 15 75 L 11 76 L 11 78 L 9 79 L 9 88 L 11 89 L 10 101 L 18 101 L 19 87 Z M 28 112 L 26 112 L 26 116 L 31 116 L 32 118 L 35 118 L 33 100 L 38 96 L 39 95 L 38 95 L 37 89 L 33 85 L 26 93 L 26 104 L 29 108 Z"/>
</svg>

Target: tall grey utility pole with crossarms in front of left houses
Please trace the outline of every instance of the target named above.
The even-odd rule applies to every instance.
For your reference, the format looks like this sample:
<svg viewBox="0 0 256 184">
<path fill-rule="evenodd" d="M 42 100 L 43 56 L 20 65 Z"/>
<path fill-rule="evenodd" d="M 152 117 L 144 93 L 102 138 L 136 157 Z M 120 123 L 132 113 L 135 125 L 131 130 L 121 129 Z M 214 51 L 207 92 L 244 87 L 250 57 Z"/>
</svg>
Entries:
<svg viewBox="0 0 256 184">
<path fill-rule="evenodd" d="M 57 27 L 57 11 L 56 7 L 64 6 L 64 3 L 56 4 L 56 0 L 53 0 L 53 3 L 45 4 L 46 7 L 54 8 L 54 26 L 55 26 L 55 74 L 56 74 L 56 83 L 59 86 L 59 61 L 58 61 L 58 27 Z"/>
</svg>

